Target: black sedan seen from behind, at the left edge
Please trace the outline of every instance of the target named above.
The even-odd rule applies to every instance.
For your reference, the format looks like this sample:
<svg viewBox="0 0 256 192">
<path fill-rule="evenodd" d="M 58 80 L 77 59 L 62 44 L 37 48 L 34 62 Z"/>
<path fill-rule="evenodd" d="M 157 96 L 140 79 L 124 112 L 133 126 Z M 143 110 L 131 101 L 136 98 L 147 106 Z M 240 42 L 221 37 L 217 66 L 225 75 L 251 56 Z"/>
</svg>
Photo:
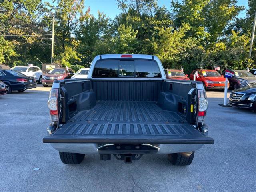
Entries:
<svg viewBox="0 0 256 192">
<path fill-rule="evenodd" d="M 36 88 L 34 77 L 28 77 L 14 70 L 0 70 L 0 80 L 6 85 L 7 94 L 12 91 L 23 92 L 27 89 Z"/>
</svg>

